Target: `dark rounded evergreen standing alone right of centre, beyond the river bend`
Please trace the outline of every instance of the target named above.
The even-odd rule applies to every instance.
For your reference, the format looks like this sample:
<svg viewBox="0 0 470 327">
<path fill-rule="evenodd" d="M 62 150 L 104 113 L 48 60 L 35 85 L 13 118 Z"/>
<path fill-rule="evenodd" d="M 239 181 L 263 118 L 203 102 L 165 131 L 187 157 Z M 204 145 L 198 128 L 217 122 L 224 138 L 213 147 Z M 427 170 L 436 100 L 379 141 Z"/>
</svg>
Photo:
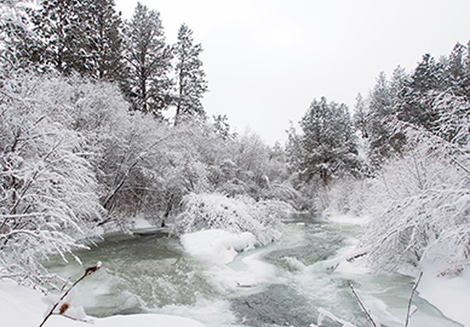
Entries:
<svg viewBox="0 0 470 327">
<path fill-rule="evenodd" d="M 334 177 L 357 173 L 357 144 L 345 104 L 328 103 L 325 97 L 313 100 L 300 124 L 301 168 L 308 179 L 319 176 L 327 186 Z"/>
</svg>

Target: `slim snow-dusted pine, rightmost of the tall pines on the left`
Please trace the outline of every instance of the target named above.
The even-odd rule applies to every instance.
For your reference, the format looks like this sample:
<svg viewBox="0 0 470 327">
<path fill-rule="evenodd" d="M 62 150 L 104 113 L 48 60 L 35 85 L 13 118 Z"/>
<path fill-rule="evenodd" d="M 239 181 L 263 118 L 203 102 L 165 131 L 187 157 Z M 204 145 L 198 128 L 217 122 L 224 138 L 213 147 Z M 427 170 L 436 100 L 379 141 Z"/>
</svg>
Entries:
<svg viewBox="0 0 470 327">
<path fill-rule="evenodd" d="M 201 44 L 194 44 L 192 31 L 182 24 L 178 32 L 178 42 L 175 48 L 177 65 L 177 95 L 175 124 L 182 117 L 199 115 L 204 117 L 202 97 L 207 92 L 206 74 L 202 69 L 199 55 Z"/>
</svg>

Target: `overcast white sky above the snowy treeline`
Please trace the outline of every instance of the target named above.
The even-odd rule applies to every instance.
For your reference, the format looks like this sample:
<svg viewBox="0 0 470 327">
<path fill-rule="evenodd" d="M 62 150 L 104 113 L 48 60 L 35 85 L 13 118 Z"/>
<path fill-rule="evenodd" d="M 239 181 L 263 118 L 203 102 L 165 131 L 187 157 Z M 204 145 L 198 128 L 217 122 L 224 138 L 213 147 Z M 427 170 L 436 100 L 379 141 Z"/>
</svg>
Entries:
<svg viewBox="0 0 470 327">
<path fill-rule="evenodd" d="M 137 1 L 115 0 L 124 18 Z M 167 42 L 181 23 L 202 43 L 204 109 L 268 144 L 286 140 L 314 98 L 367 95 L 381 70 L 412 70 L 424 53 L 470 41 L 469 0 L 141 0 L 160 11 Z"/>
</svg>

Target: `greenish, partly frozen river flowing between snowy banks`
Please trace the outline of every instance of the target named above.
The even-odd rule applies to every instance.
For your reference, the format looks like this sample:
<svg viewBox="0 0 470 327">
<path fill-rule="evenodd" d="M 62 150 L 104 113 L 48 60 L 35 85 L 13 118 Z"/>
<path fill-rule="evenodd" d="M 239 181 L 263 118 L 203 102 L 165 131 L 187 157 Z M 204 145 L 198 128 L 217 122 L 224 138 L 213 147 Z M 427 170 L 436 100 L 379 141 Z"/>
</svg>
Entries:
<svg viewBox="0 0 470 327">
<path fill-rule="evenodd" d="M 299 217 L 286 223 L 281 240 L 241 252 L 226 266 L 191 257 L 176 237 L 107 238 L 77 253 L 84 266 L 99 260 L 103 268 L 78 285 L 75 304 L 90 316 L 165 313 L 207 327 L 308 327 L 320 311 L 370 326 L 350 291 L 351 281 L 382 326 L 403 326 L 413 279 L 369 274 L 344 260 L 335 268 L 335 258 L 354 247 L 362 227 Z M 72 261 L 53 259 L 47 266 L 72 280 L 83 274 Z M 418 310 L 410 326 L 461 326 L 419 296 L 414 305 Z M 322 326 L 342 323 L 325 318 Z"/>
</svg>

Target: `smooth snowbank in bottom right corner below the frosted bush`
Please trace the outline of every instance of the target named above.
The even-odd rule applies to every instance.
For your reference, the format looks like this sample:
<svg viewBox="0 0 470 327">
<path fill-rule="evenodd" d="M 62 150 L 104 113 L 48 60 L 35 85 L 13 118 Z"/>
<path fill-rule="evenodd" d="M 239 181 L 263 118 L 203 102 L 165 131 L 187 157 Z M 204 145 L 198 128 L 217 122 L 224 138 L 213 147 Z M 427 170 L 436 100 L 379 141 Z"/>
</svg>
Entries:
<svg viewBox="0 0 470 327">
<path fill-rule="evenodd" d="M 424 271 L 418 292 L 445 316 L 470 326 L 470 268 L 451 278 L 438 277 L 434 269 L 428 268 Z"/>
</svg>

